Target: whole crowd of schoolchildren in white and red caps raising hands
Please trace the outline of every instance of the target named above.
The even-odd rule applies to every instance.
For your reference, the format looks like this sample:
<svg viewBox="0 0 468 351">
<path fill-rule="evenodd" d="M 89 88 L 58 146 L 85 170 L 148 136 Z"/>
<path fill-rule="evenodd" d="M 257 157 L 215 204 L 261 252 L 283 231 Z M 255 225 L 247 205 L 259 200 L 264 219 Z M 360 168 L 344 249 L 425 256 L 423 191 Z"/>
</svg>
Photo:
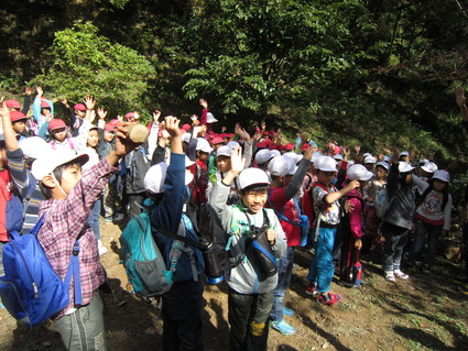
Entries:
<svg viewBox="0 0 468 351">
<path fill-rule="evenodd" d="M 230 349 L 266 350 L 269 326 L 295 333 L 284 318 L 295 311 L 283 300 L 298 246 L 314 251 L 306 294 L 333 306 L 341 300 L 330 292 L 336 264 L 339 283 L 359 287 L 353 268 L 360 252 L 372 248 L 382 254 L 387 281 L 407 279 L 404 250 L 414 270 L 427 243 L 422 271 L 429 274 L 437 240 L 449 230 L 448 172 L 428 160 L 415 167 L 407 152 L 377 160 L 357 147 L 350 161 L 347 149 L 334 142 L 320 152 L 304 133 L 283 145 L 281 131 L 266 131 L 264 123 L 251 134 L 239 124 L 235 133 L 225 128 L 215 133 L 217 120 L 204 99 L 200 118 L 187 124 L 174 117 L 160 121 L 155 111 L 148 142 L 137 144 L 126 134 L 137 112 L 127 113 L 126 122 L 106 121 L 107 112 L 95 111 L 95 105 L 92 97 L 76 103 L 67 125 L 54 118 L 52 101 L 37 88 L 32 118 L 15 100 L 4 101 L 0 111 L 0 245 L 12 230 L 9 206 L 18 198 L 23 234 L 44 217 L 37 238 L 61 278 L 79 246 L 80 296 L 72 282 L 68 306 L 54 316 L 68 350 L 106 350 L 100 213 L 107 222 L 130 218 L 146 198 L 155 242 L 167 268 L 175 265 L 174 284 L 163 295 L 165 350 L 204 349 L 205 262 L 189 242 L 176 242 L 181 256 L 174 261 L 177 240 L 167 232 L 197 241 L 211 221 L 204 235 L 227 253 Z"/>
</svg>

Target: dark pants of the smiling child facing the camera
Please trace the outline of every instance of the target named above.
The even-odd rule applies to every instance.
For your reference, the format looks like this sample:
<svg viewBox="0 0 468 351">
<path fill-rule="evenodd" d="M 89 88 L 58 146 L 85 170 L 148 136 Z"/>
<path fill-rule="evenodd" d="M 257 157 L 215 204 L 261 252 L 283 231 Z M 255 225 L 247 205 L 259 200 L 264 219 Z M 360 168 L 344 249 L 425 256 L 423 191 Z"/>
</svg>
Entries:
<svg viewBox="0 0 468 351">
<path fill-rule="evenodd" d="M 273 292 L 238 294 L 229 289 L 229 325 L 231 351 L 263 351 L 268 343 L 268 319 Z"/>
</svg>

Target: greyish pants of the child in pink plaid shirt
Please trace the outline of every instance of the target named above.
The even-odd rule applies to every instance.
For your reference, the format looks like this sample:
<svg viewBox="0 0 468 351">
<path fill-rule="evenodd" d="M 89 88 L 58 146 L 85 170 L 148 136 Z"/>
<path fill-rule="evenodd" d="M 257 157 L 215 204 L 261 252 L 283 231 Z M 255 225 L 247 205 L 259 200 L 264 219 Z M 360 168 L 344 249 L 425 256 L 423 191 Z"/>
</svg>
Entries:
<svg viewBox="0 0 468 351">
<path fill-rule="evenodd" d="M 54 320 L 67 350 L 107 350 L 102 310 L 102 299 L 96 292 L 89 305 Z"/>
</svg>

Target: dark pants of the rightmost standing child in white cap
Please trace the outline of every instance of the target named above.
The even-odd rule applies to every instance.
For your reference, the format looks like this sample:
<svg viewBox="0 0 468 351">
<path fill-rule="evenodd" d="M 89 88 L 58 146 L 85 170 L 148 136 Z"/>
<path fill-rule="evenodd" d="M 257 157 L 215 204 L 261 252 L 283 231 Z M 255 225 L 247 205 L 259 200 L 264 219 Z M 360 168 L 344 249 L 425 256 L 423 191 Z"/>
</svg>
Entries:
<svg viewBox="0 0 468 351">
<path fill-rule="evenodd" d="M 437 239 L 442 233 L 442 226 L 432 226 L 416 220 L 416 232 L 414 233 L 414 243 L 411 249 L 410 261 L 414 262 L 417 255 L 423 251 L 424 243 L 426 242 L 427 233 L 427 252 L 424 259 L 424 264 L 432 266 L 434 263 L 435 254 L 437 253 Z"/>
</svg>

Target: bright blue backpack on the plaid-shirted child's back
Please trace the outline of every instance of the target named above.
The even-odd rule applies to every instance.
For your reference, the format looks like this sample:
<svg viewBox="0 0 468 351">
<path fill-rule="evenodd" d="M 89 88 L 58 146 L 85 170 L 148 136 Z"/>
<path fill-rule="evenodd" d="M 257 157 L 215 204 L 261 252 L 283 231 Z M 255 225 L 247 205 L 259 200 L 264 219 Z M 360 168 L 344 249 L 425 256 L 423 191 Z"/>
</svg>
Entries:
<svg viewBox="0 0 468 351">
<path fill-rule="evenodd" d="M 79 239 L 74 245 L 65 282 L 62 282 L 36 238 L 43 220 L 44 216 L 29 234 L 10 232 L 10 241 L 4 244 L 2 252 L 4 276 L 0 277 L 1 300 L 10 315 L 28 327 L 58 314 L 68 305 L 72 275 L 75 281 L 75 303 L 81 304 Z"/>
</svg>

